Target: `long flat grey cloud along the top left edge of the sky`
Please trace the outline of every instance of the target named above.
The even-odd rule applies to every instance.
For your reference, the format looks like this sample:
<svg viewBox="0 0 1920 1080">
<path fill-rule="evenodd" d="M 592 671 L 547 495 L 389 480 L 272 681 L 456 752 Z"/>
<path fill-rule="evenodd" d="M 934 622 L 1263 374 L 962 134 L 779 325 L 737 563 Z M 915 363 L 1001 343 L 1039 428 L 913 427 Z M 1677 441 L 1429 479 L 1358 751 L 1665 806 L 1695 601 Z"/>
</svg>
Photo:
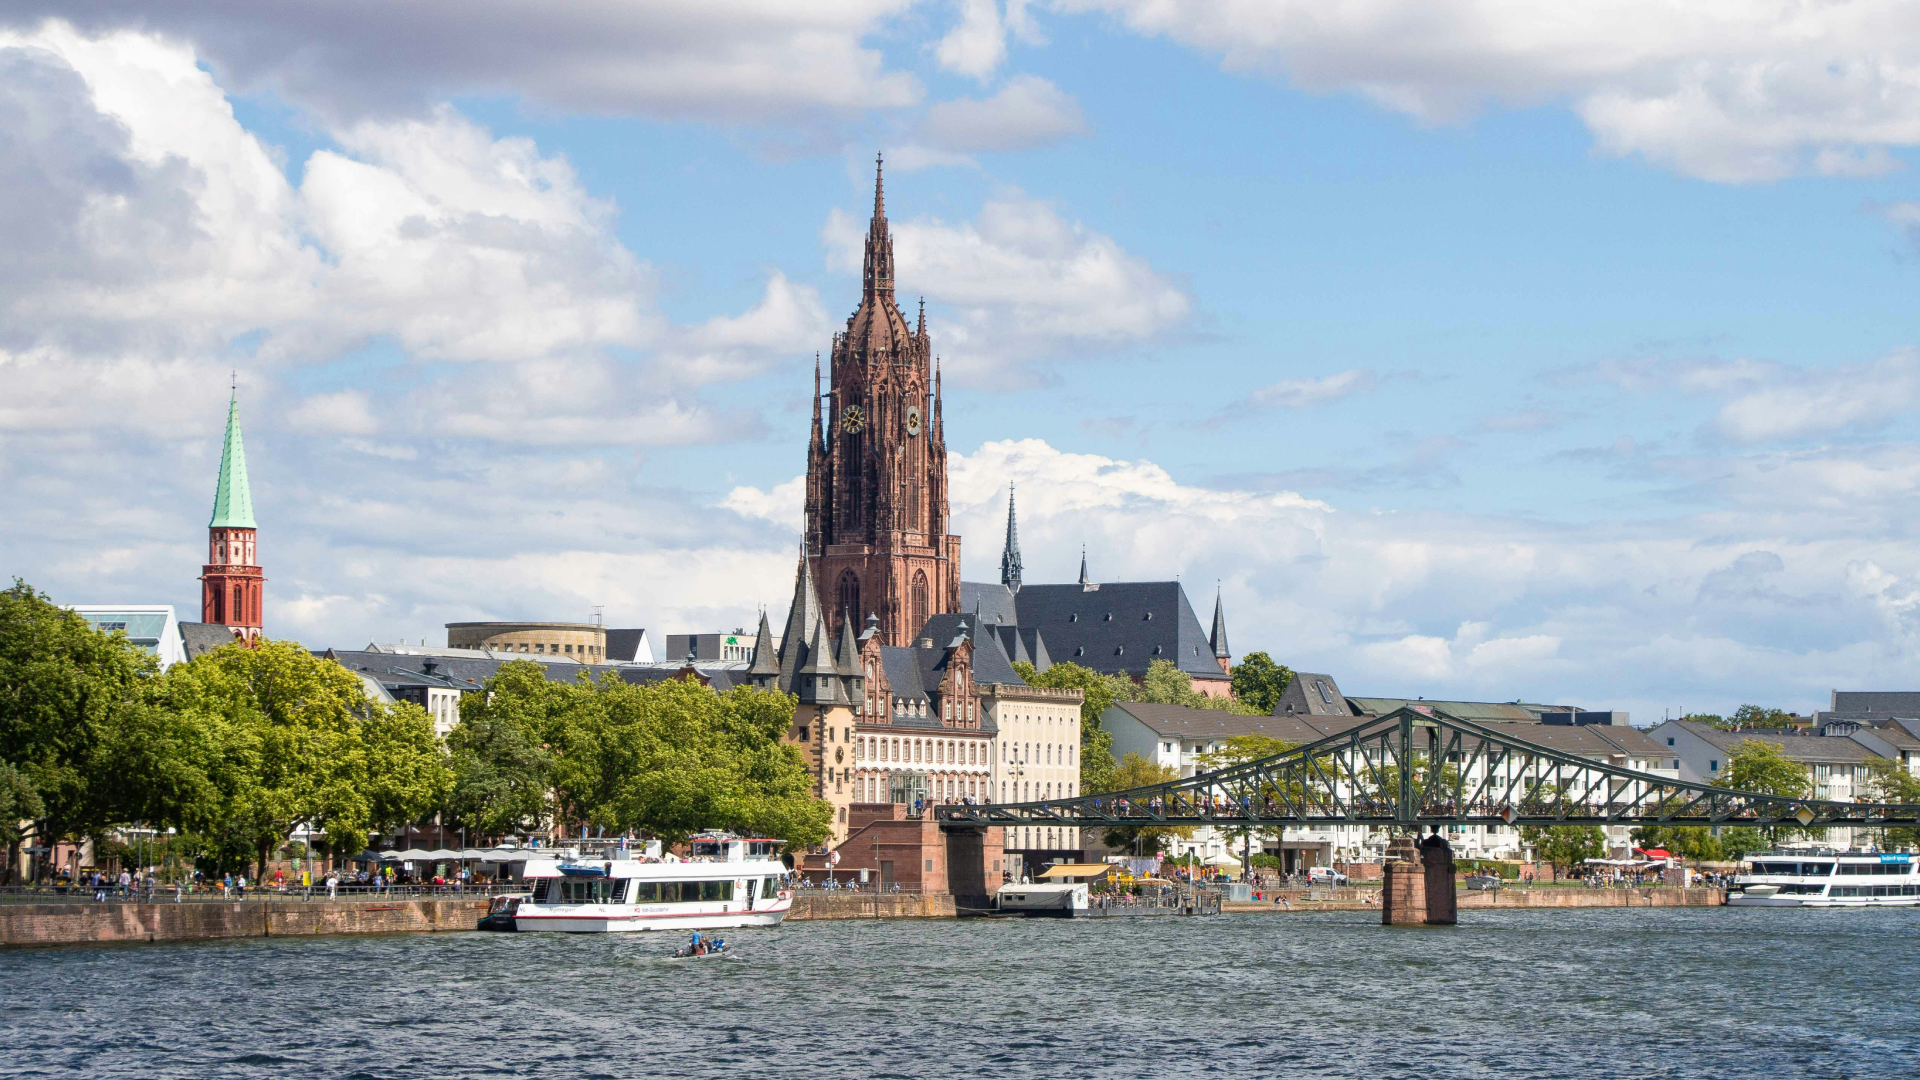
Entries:
<svg viewBox="0 0 1920 1080">
<path fill-rule="evenodd" d="M 100 0 L 15 4 L 10 21 L 165 33 L 192 42 L 223 83 L 328 117 L 524 94 L 589 113 L 770 121 L 916 104 L 920 83 L 862 44 L 910 2 Z"/>
</svg>

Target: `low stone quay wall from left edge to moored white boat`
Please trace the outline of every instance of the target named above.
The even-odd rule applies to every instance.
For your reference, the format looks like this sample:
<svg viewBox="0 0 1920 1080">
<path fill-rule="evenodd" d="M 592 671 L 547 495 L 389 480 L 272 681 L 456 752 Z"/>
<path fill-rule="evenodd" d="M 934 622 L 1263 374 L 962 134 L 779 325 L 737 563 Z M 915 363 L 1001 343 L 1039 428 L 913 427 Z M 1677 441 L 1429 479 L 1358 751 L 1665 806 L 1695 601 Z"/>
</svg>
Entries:
<svg viewBox="0 0 1920 1080">
<path fill-rule="evenodd" d="M 4 903 L 0 945 L 472 930 L 486 897 Z"/>
</svg>

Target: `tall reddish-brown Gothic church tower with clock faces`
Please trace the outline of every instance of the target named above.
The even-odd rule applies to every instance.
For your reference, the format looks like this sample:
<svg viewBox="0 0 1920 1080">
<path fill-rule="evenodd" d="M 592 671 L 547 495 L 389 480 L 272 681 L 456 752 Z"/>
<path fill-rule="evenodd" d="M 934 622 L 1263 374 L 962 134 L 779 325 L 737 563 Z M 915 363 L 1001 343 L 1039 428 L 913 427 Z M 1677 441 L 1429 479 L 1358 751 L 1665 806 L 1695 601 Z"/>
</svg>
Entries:
<svg viewBox="0 0 1920 1080">
<path fill-rule="evenodd" d="M 833 334 L 828 413 L 814 365 L 806 444 L 806 552 L 820 605 L 839 634 L 879 617 L 883 644 L 910 646 L 931 615 L 960 609 L 960 538 L 947 513 L 941 375 L 927 307 L 906 325 L 893 300 L 893 236 L 879 163 L 866 231 L 860 307 Z M 945 644 L 945 642 L 937 642 Z"/>
</svg>

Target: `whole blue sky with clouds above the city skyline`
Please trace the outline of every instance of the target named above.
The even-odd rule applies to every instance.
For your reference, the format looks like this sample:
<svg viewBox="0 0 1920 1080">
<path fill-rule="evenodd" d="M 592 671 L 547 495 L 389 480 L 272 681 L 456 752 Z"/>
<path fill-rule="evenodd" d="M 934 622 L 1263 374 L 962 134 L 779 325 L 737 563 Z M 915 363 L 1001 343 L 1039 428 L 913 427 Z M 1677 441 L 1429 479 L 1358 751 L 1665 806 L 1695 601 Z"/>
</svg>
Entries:
<svg viewBox="0 0 1920 1080">
<path fill-rule="evenodd" d="M 964 573 L 1348 694 L 1912 686 L 1920 8 L 0 0 L 0 571 L 778 623 L 874 158 Z"/>
</svg>

